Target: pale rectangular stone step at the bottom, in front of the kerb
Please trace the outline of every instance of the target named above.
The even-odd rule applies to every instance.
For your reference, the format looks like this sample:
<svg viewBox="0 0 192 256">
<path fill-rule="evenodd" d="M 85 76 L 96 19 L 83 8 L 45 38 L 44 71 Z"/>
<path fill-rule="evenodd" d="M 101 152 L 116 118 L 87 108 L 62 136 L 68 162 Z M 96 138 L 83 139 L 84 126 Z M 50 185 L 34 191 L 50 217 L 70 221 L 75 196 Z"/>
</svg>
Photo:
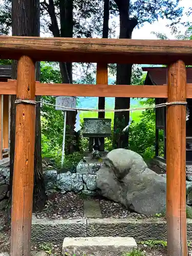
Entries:
<svg viewBox="0 0 192 256">
<path fill-rule="evenodd" d="M 63 256 L 122 256 L 137 248 L 135 239 L 129 237 L 65 238 Z"/>
</svg>

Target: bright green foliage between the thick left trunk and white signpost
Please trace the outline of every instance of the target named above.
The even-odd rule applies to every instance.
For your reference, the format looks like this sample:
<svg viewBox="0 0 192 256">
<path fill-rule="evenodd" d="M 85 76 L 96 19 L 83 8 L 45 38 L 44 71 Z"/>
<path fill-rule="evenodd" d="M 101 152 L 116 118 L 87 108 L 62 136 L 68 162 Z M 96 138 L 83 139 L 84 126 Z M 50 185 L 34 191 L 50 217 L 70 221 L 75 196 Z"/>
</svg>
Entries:
<svg viewBox="0 0 192 256">
<path fill-rule="evenodd" d="M 57 63 L 41 62 L 41 82 L 61 83 L 61 74 Z M 55 104 L 55 97 L 44 96 L 41 98 L 46 103 Z M 41 105 L 41 146 L 42 157 L 50 157 L 60 165 L 62 138 L 63 138 L 63 112 L 56 111 L 55 106 Z M 66 148 L 69 142 L 75 141 L 69 135 L 70 126 L 66 125 Z"/>
</svg>

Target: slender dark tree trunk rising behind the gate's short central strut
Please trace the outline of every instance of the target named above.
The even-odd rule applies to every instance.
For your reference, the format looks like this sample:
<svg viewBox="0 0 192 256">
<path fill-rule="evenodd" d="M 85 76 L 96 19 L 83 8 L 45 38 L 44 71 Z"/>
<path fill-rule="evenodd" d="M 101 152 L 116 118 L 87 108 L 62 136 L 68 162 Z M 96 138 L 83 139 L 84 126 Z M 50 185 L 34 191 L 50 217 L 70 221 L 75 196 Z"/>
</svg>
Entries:
<svg viewBox="0 0 192 256">
<path fill-rule="evenodd" d="M 103 31 L 102 38 L 108 38 L 109 34 L 109 16 L 110 16 L 110 1 L 104 0 L 104 11 L 103 11 Z M 98 109 L 104 110 L 105 107 L 105 97 L 99 97 Z M 99 112 L 98 118 L 104 118 L 105 113 Z"/>
</svg>

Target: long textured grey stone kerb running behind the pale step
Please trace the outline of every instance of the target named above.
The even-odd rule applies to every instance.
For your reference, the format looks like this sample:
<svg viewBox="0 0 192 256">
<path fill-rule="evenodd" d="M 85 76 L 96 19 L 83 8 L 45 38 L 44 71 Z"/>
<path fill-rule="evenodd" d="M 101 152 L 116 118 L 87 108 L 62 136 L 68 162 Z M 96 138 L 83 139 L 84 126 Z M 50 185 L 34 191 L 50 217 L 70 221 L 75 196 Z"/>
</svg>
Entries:
<svg viewBox="0 0 192 256">
<path fill-rule="evenodd" d="M 66 237 L 133 237 L 136 242 L 167 240 L 166 221 L 151 219 L 33 220 L 33 243 L 62 243 Z M 187 220 L 187 240 L 192 241 L 192 221 Z"/>
</svg>

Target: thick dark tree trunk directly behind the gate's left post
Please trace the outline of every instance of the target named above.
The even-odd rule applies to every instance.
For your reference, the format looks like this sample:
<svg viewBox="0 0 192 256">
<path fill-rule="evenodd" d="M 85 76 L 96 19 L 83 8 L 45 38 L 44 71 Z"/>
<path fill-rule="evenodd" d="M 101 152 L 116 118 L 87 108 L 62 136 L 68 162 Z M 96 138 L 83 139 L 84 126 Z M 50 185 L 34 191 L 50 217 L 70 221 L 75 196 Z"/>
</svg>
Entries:
<svg viewBox="0 0 192 256">
<path fill-rule="evenodd" d="M 12 35 L 40 36 L 39 0 L 12 0 Z M 12 77 L 16 79 L 16 61 L 12 62 Z M 36 79 L 39 80 L 39 63 L 36 63 Z M 39 97 L 37 98 L 37 101 Z M 14 148 L 15 148 L 15 96 L 11 96 L 11 134 L 10 134 L 10 186 L 12 187 Z M 45 205 L 46 191 L 42 175 L 40 105 L 36 106 L 36 137 L 34 153 L 34 200 L 33 207 Z"/>
</svg>

